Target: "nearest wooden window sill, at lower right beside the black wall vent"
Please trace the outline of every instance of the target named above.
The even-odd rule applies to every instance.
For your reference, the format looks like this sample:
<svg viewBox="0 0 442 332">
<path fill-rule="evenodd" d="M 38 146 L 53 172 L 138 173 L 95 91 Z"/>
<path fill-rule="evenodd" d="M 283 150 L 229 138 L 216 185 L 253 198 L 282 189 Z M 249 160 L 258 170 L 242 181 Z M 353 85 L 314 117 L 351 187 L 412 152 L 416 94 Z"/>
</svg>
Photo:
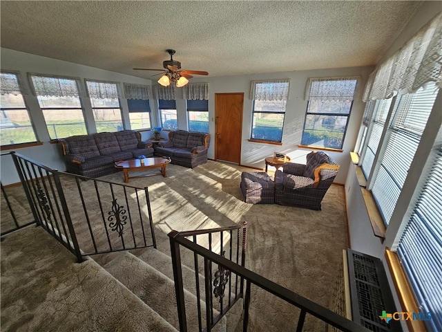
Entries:
<svg viewBox="0 0 442 332">
<path fill-rule="evenodd" d="M 401 262 L 396 252 L 388 249 L 385 250 L 385 260 L 387 261 L 390 274 L 392 275 L 394 287 L 401 302 L 402 311 L 407 313 L 419 313 L 419 308 L 414 299 L 410 284 L 408 284 L 407 277 L 403 272 Z M 407 320 L 407 327 L 412 332 L 427 331 L 422 320 Z"/>
</svg>

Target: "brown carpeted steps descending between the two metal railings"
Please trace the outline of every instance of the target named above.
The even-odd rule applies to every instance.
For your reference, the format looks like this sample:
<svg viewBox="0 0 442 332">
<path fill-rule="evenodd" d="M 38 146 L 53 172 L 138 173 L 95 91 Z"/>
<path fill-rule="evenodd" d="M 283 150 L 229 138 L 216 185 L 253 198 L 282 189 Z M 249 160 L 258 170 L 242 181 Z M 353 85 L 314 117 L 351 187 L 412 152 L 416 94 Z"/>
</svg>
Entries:
<svg viewBox="0 0 442 332">
<path fill-rule="evenodd" d="M 179 329 L 175 286 L 171 257 L 154 248 L 144 248 L 131 252 L 115 252 L 104 257 L 97 257 L 102 266 L 115 279 L 124 284 L 132 293 L 140 297 L 144 303 L 153 308 L 175 329 Z M 184 301 L 186 303 L 186 320 L 188 331 L 198 331 L 197 297 L 195 293 L 195 271 L 182 266 L 184 283 Z M 200 275 L 200 286 L 204 286 L 204 277 Z M 204 297 L 202 287 L 201 296 Z M 205 302 L 200 300 L 202 324 L 205 326 Z M 216 317 L 219 312 L 213 310 Z M 242 299 L 222 317 L 212 331 L 235 331 L 242 314 Z M 203 327 L 204 328 L 204 327 Z"/>
</svg>

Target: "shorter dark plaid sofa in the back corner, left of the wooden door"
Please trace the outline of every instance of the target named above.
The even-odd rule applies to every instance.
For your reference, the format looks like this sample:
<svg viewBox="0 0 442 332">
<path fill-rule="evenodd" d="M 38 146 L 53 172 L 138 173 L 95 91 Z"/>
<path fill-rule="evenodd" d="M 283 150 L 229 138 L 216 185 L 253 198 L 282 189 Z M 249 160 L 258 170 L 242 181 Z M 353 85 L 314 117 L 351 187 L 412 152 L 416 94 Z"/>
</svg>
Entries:
<svg viewBox="0 0 442 332">
<path fill-rule="evenodd" d="M 194 168 L 207 163 L 209 133 L 197 131 L 169 131 L 169 140 L 155 147 L 155 154 L 171 158 L 171 163 Z"/>
</svg>

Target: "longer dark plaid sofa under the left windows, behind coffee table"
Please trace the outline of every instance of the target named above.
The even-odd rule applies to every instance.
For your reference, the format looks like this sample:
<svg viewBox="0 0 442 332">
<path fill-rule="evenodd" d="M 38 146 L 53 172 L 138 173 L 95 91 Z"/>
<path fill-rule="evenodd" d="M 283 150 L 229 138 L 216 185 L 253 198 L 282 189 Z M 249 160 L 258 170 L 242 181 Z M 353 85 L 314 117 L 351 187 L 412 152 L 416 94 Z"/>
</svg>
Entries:
<svg viewBox="0 0 442 332">
<path fill-rule="evenodd" d="M 153 156 L 151 142 L 142 142 L 137 131 L 70 136 L 59 140 L 66 171 L 96 178 L 119 172 L 115 161 Z"/>
</svg>

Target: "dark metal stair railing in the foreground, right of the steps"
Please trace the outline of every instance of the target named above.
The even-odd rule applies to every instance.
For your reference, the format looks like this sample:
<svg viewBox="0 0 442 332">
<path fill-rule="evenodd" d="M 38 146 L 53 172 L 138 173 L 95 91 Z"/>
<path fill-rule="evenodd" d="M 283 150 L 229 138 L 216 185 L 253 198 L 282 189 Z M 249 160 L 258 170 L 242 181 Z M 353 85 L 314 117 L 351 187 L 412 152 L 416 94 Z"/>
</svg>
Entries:
<svg viewBox="0 0 442 332">
<path fill-rule="evenodd" d="M 203 232 L 204 230 L 200 231 Z M 307 313 L 309 315 L 313 315 L 323 322 L 330 324 L 337 329 L 340 329 L 344 332 L 370 332 L 369 329 L 356 324 L 352 320 L 347 320 L 347 318 L 342 317 L 333 311 L 316 304 L 315 302 L 290 291 L 289 289 L 282 287 L 274 282 L 271 282 L 269 279 L 262 277 L 256 273 L 253 273 L 251 270 L 244 268 L 238 264 L 238 262 L 231 261 L 222 255 L 218 255 L 217 253 L 200 246 L 195 241 L 190 241 L 186 239 L 182 234 L 189 234 L 189 232 L 177 232 L 175 230 L 169 232 L 169 240 L 171 243 L 171 257 L 173 264 L 173 273 L 175 278 L 175 292 L 177 297 L 177 310 L 178 310 L 178 319 L 180 321 L 180 331 L 186 332 L 186 307 L 184 304 L 184 291 L 183 291 L 183 280 L 182 280 L 182 271 L 181 271 L 181 247 L 186 248 L 193 252 L 195 257 L 202 257 L 204 259 L 204 278 L 206 285 L 206 305 L 207 301 L 210 302 L 211 295 L 207 295 L 207 293 L 215 292 L 215 289 L 212 290 L 211 286 L 211 264 L 218 264 L 218 268 L 220 270 L 229 271 L 228 276 L 231 279 L 231 275 L 236 275 L 236 277 L 240 277 L 245 281 L 245 291 L 242 297 L 244 298 L 244 312 L 243 312 L 243 326 L 242 331 L 246 332 L 248 328 L 249 321 L 249 306 L 250 306 L 250 296 L 251 296 L 251 285 L 255 285 L 263 290 L 283 299 L 285 302 L 300 308 L 300 314 L 298 317 L 298 324 L 296 326 L 296 332 L 301 332 L 305 322 L 305 316 Z M 215 287 L 214 287 L 215 288 Z M 225 315 L 225 312 L 222 313 Z M 218 322 L 221 317 L 218 317 Z M 213 326 L 216 324 L 214 320 L 211 319 L 209 313 L 206 313 L 206 326 L 204 329 L 200 327 L 200 331 L 211 331 Z"/>
</svg>

